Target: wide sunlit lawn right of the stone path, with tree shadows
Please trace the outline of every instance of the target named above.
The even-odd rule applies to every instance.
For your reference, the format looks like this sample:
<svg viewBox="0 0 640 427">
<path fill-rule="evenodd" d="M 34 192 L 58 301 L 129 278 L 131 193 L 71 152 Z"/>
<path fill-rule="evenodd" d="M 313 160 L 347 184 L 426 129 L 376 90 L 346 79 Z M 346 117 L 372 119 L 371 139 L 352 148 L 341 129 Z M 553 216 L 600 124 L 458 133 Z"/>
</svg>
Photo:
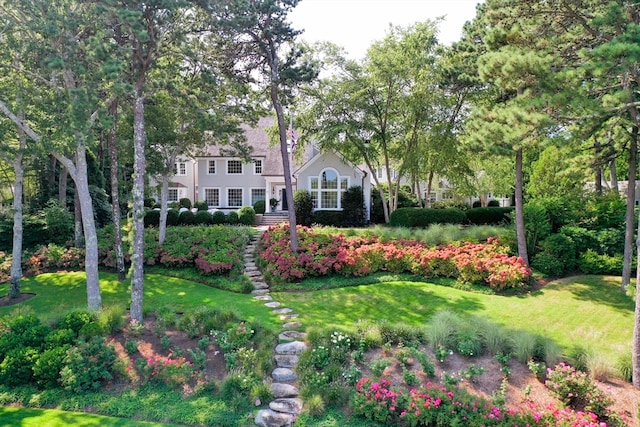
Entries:
<svg viewBox="0 0 640 427">
<path fill-rule="evenodd" d="M 438 311 L 484 316 L 511 330 L 555 340 L 565 352 L 581 345 L 612 364 L 629 351 L 634 304 L 619 291 L 619 278 L 576 276 L 518 296 L 485 295 L 433 283 L 397 281 L 323 290 L 277 293 L 300 313 L 303 325 L 350 329 L 360 319 L 427 324 Z"/>
</svg>

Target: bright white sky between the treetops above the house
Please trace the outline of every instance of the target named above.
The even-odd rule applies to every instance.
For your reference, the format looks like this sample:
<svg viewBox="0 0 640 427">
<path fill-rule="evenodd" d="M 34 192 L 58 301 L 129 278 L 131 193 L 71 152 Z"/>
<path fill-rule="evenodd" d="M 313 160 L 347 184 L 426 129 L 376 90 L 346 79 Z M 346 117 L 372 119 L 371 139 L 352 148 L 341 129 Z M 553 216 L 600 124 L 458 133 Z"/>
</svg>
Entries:
<svg viewBox="0 0 640 427">
<path fill-rule="evenodd" d="M 444 17 L 438 40 L 457 41 L 462 26 L 475 16 L 482 0 L 301 0 L 289 14 L 295 29 L 303 29 L 307 42 L 331 41 L 362 59 L 369 46 L 384 38 L 389 24 L 406 27 Z"/>
</svg>

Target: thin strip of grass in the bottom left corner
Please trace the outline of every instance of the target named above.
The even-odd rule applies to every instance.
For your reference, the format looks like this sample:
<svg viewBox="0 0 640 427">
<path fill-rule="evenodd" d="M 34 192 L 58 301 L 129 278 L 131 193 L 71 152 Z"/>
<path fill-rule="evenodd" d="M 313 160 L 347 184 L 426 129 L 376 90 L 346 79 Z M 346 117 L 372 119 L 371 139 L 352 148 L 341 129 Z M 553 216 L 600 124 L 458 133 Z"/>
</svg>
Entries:
<svg viewBox="0 0 640 427">
<path fill-rule="evenodd" d="M 0 423 L 7 427 L 169 427 L 175 425 L 131 421 L 81 412 L 59 411 L 57 409 L 27 409 L 16 407 L 0 407 L 0 420 Z"/>
</svg>

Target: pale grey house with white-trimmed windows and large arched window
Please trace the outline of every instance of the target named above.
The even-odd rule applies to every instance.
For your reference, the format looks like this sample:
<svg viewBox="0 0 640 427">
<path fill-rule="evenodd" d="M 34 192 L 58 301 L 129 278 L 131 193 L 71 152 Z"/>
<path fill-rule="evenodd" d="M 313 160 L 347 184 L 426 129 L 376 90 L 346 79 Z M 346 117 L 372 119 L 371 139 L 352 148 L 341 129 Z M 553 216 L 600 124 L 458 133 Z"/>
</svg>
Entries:
<svg viewBox="0 0 640 427">
<path fill-rule="evenodd" d="M 259 200 L 264 200 L 269 209 L 269 199 L 275 198 L 277 211 L 291 208 L 285 192 L 280 146 L 271 145 L 266 132 L 273 123 L 273 118 L 263 118 L 256 127 L 244 127 L 247 144 L 253 148 L 250 163 L 225 156 L 218 146 L 207 147 L 194 159 L 180 158 L 169 185 L 169 201 L 187 197 L 192 202 L 205 200 L 209 209 L 229 211 L 253 206 Z M 367 220 L 370 218 L 370 179 L 365 171 L 340 155 L 308 147 L 300 163 L 291 164 L 291 170 L 294 192 L 308 190 L 315 209 L 340 210 L 342 193 L 349 187 L 362 186 Z"/>
</svg>

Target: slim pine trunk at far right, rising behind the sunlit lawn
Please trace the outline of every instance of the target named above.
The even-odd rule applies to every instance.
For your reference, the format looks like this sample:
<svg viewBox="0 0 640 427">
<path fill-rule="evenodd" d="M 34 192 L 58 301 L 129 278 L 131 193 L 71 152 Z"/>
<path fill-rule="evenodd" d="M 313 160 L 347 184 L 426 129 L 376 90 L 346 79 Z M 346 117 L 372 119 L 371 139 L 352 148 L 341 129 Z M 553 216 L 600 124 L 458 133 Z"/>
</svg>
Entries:
<svg viewBox="0 0 640 427">
<path fill-rule="evenodd" d="M 631 146 L 629 147 L 629 185 L 627 186 L 627 210 L 625 214 L 624 229 L 624 255 L 622 263 L 622 282 L 620 289 L 626 292 L 631 282 L 631 269 L 633 264 L 633 233 L 635 232 L 635 200 L 636 200 L 636 167 L 638 157 L 638 127 L 634 126 L 631 132 Z"/>
</svg>

